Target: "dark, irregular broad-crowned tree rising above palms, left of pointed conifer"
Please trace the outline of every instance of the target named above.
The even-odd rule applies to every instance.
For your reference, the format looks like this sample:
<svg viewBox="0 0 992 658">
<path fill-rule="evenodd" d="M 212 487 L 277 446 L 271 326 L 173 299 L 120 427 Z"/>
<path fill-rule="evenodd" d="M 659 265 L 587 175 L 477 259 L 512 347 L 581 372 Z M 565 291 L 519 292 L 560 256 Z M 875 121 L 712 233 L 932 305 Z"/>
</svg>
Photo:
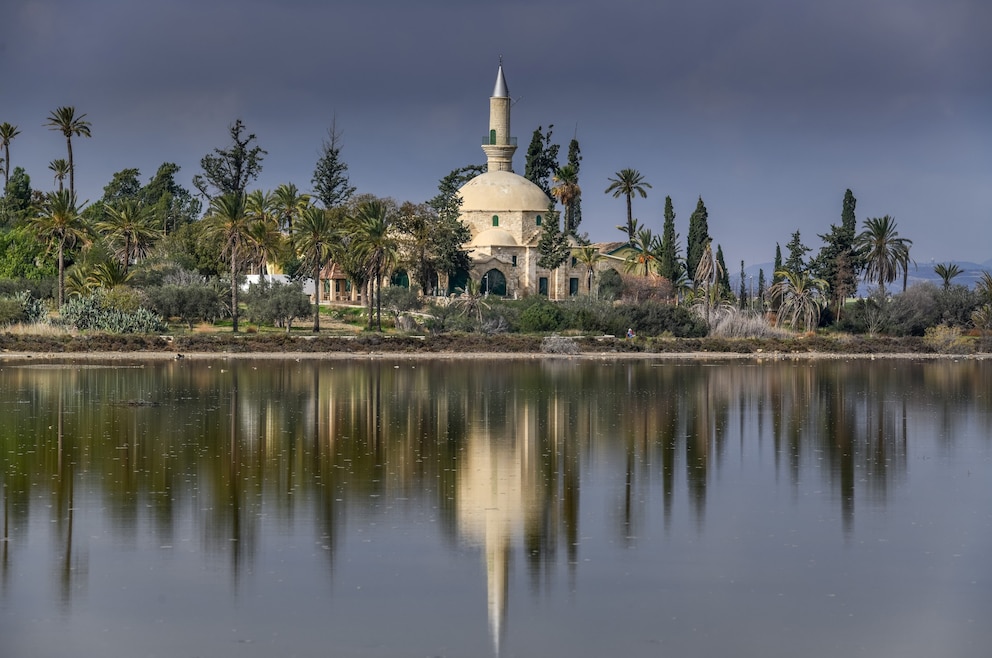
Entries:
<svg viewBox="0 0 992 658">
<path fill-rule="evenodd" d="M 244 197 L 248 184 L 262 173 L 262 160 L 268 151 L 258 146 L 253 133 L 245 133 L 245 124 L 237 119 L 228 128 L 231 145 L 215 148 L 200 159 L 202 174 L 193 177 L 193 186 L 204 197 L 213 199 L 234 194 Z"/>
</svg>

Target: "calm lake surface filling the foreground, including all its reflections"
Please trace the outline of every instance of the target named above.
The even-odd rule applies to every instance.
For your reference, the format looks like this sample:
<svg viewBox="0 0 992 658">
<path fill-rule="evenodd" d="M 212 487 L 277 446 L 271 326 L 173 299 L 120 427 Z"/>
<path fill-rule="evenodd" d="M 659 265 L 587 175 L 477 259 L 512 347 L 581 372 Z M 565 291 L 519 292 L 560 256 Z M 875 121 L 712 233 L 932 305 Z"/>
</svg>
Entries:
<svg viewBox="0 0 992 658">
<path fill-rule="evenodd" d="M 0 656 L 992 655 L 992 362 L 0 364 Z"/>
</svg>

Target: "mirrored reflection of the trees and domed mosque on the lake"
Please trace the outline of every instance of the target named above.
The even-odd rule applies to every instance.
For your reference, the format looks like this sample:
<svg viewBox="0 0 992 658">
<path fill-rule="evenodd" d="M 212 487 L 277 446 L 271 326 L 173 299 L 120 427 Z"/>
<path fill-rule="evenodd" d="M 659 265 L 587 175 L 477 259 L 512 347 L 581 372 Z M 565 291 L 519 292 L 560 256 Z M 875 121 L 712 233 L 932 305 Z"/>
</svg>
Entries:
<svg viewBox="0 0 992 658">
<path fill-rule="evenodd" d="M 515 554 L 535 594 L 555 589 L 560 561 L 571 590 L 580 523 L 604 506 L 628 549 L 659 509 L 665 532 L 685 513 L 703 534 L 711 497 L 738 495 L 721 483 L 746 490 L 768 465 L 793 496 L 822 479 L 849 537 L 906 477 L 914 431 L 951 446 L 979 419 L 992 434 L 989 390 L 979 361 L 8 364 L 2 596 L 18 596 L 45 525 L 70 609 L 92 585 L 94 537 L 138 550 L 192 534 L 237 597 L 266 529 L 312 527 L 333 582 L 356 520 L 430 509 L 452 550 L 482 558 L 499 653 Z"/>
</svg>

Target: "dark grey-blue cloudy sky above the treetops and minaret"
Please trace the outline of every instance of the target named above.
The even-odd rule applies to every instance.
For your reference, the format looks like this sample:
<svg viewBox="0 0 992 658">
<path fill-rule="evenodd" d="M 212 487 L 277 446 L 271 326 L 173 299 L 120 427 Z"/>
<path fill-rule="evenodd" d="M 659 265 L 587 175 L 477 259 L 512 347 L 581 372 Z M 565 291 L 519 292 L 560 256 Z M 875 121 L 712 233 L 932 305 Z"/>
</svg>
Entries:
<svg viewBox="0 0 992 658">
<path fill-rule="evenodd" d="M 554 124 L 583 161 L 583 225 L 621 237 L 608 178 L 652 184 L 634 214 L 676 228 L 702 196 L 730 269 L 767 262 L 793 231 L 893 215 L 931 260 L 992 259 L 992 3 L 987 0 L 8 0 L 0 121 L 13 164 L 51 189 L 72 105 L 77 188 L 163 162 L 190 183 L 245 121 L 268 151 L 258 187 L 304 190 L 332 119 L 359 191 L 425 201 L 483 161 L 499 56 L 521 148 Z"/>
</svg>

